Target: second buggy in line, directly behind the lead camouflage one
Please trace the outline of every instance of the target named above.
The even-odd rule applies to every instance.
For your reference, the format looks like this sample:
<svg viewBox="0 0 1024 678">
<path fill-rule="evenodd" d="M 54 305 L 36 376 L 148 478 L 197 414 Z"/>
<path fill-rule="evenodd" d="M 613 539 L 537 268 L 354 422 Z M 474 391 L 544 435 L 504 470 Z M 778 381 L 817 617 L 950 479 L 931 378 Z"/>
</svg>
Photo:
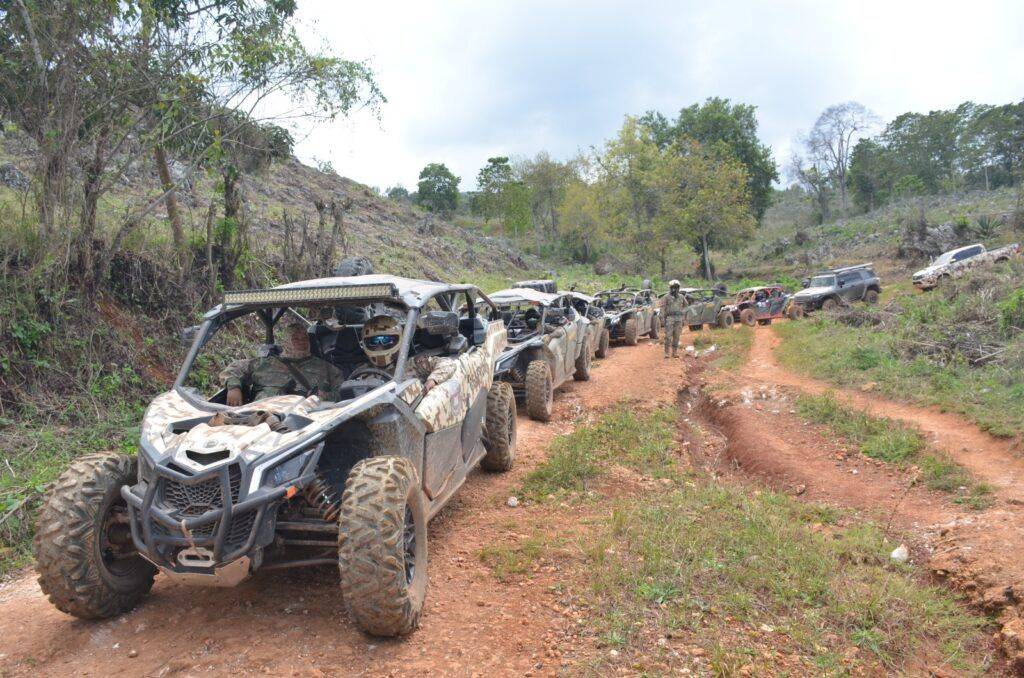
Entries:
<svg viewBox="0 0 1024 678">
<path fill-rule="evenodd" d="M 493 321 L 508 328 L 508 347 L 495 366 L 495 378 L 511 385 L 531 419 L 548 421 L 555 389 L 571 377 L 590 379 L 591 323 L 565 305 L 563 295 L 528 288 L 495 292 Z"/>
</svg>

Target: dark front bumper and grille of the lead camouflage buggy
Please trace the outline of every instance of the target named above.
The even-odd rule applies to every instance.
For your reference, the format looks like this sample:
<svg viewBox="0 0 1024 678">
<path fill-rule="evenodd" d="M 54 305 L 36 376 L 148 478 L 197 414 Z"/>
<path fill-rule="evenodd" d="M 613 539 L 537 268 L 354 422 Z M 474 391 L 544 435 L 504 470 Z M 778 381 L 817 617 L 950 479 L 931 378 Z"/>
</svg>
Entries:
<svg viewBox="0 0 1024 678">
<path fill-rule="evenodd" d="M 289 488 L 260 488 L 245 496 L 251 472 L 238 462 L 196 475 L 153 467 L 151 477 L 121 489 L 135 548 L 170 574 L 209 576 L 266 546 L 273 540 L 276 511 L 271 508 Z M 310 479 L 289 484 L 301 488 Z M 196 558 L 197 553 L 205 557 Z"/>
</svg>

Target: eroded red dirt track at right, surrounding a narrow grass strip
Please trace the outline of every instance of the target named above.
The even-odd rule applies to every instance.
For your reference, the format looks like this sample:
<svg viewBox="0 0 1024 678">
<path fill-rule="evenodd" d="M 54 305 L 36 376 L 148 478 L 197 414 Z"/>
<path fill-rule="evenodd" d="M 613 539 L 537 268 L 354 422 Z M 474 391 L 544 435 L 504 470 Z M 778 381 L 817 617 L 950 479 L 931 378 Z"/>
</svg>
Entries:
<svg viewBox="0 0 1024 678">
<path fill-rule="evenodd" d="M 905 535 L 915 560 L 998 616 L 1002 649 L 1024 674 L 1024 460 L 1013 441 L 955 415 L 794 374 L 774 357 L 778 342 L 770 329 L 759 329 L 738 373 L 710 376 L 726 395 L 706 410 L 728 439 L 733 468 L 802 498 L 852 507 Z M 992 505 L 983 511 L 958 505 L 920 484 L 915 469 L 856 454 L 797 416 L 797 394 L 828 390 L 847 408 L 919 428 L 935 451 L 992 488 Z"/>
</svg>

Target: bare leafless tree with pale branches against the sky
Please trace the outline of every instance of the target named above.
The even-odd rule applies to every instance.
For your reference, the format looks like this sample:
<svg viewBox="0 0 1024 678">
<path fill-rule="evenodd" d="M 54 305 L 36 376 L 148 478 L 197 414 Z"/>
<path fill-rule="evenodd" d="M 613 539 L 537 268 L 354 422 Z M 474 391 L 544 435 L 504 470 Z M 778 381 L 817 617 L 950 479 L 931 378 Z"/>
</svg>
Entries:
<svg viewBox="0 0 1024 678">
<path fill-rule="evenodd" d="M 857 140 L 878 124 L 878 117 L 856 101 L 825 109 L 804 139 L 807 155 L 819 172 L 829 175 L 839 189 L 840 204 L 850 208 L 848 172 Z"/>
</svg>

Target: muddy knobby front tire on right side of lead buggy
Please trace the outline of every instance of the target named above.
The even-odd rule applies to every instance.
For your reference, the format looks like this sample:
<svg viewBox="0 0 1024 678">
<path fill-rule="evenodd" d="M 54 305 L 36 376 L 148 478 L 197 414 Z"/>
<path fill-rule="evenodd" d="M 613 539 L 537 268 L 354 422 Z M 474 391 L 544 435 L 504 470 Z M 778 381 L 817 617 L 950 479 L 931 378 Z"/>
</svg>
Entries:
<svg viewBox="0 0 1024 678">
<path fill-rule="evenodd" d="M 413 464 L 364 459 L 341 499 L 338 565 L 349 617 L 375 636 L 401 636 L 420 623 L 427 594 L 427 512 Z"/>
</svg>

